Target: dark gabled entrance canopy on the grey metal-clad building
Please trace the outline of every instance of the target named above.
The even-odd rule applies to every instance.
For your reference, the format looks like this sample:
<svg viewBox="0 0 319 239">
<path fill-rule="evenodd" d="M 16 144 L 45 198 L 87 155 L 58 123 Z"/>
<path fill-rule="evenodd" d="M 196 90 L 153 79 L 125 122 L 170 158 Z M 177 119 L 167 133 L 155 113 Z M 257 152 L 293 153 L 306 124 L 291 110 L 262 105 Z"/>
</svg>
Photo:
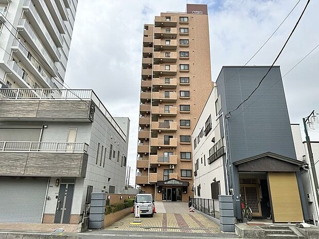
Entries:
<svg viewBox="0 0 319 239">
<path fill-rule="evenodd" d="M 267 152 L 234 162 L 238 171 L 251 172 L 298 172 L 304 163 L 297 159 Z"/>
</svg>

